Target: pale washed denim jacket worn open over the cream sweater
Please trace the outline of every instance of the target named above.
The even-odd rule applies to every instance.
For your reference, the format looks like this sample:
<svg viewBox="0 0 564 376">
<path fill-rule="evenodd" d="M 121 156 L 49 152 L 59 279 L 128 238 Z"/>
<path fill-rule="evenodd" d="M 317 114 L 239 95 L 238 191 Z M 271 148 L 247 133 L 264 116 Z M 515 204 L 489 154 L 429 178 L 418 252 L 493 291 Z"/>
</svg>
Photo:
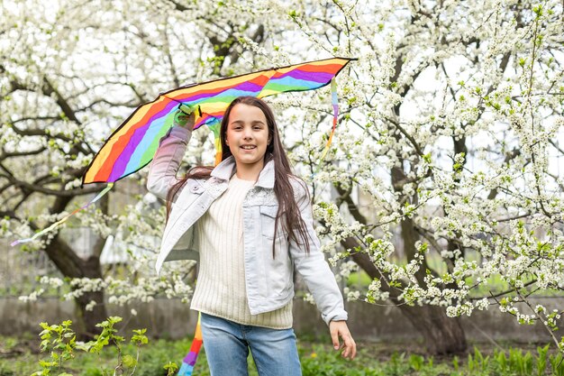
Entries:
<svg viewBox="0 0 564 376">
<path fill-rule="evenodd" d="M 150 165 L 147 188 L 153 194 L 166 199 L 168 190 L 177 183 L 177 170 L 186 151 L 191 132 L 173 126 L 159 143 L 159 149 Z M 223 160 L 212 171 L 210 179 L 188 179 L 173 201 L 160 245 L 156 269 L 165 261 L 198 260 L 194 247 L 194 224 L 205 214 L 217 197 L 228 188 L 235 172 L 235 160 Z M 305 183 L 290 179 L 294 196 L 310 236 L 310 252 L 295 241 L 289 241 L 287 233 L 278 221 L 275 255 L 272 257 L 272 238 L 277 198 L 274 194 L 274 162 L 269 161 L 260 172 L 259 179 L 244 198 L 243 244 L 247 297 L 251 315 L 284 307 L 294 297 L 294 269 L 305 280 L 314 296 L 322 318 L 329 325 L 332 320 L 346 320 L 341 291 L 329 265 L 320 252 L 319 239 L 314 231 L 312 206 Z M 182 238 L 182 242 L 178 242 Z"/>
</svg>

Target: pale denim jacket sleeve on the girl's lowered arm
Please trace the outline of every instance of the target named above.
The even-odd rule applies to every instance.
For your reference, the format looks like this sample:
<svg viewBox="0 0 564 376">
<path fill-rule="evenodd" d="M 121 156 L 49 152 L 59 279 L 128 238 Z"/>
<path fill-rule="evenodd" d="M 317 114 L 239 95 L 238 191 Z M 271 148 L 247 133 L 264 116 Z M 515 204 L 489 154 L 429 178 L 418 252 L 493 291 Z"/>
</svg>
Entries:
<svg viewBox="0 0 564 376">
<path fill-rule="evenodd" d="M 346 320 L 347 312 L 341 290 L 337 285 L 335 276 L 325 261 L 323 252 L 320 251 L 320 242 L 314 229 L 314 216 L 312 204 L 307 194 L 307 186 L 303 181 L 292 184 L 300 214 L 305 222 L 306 233 L 309 235 L 310 252 L 305 252 L 305 245 L 290 240 L 289 251 L 296 266 L 296 271 L 304 277 L 307 289 L 314 296 L 315 304 L 321 312 L 323 321 L 329 325 L 331 321 Z M 297 239 L 300 240 L 298 233 Z"/>
</svg>

